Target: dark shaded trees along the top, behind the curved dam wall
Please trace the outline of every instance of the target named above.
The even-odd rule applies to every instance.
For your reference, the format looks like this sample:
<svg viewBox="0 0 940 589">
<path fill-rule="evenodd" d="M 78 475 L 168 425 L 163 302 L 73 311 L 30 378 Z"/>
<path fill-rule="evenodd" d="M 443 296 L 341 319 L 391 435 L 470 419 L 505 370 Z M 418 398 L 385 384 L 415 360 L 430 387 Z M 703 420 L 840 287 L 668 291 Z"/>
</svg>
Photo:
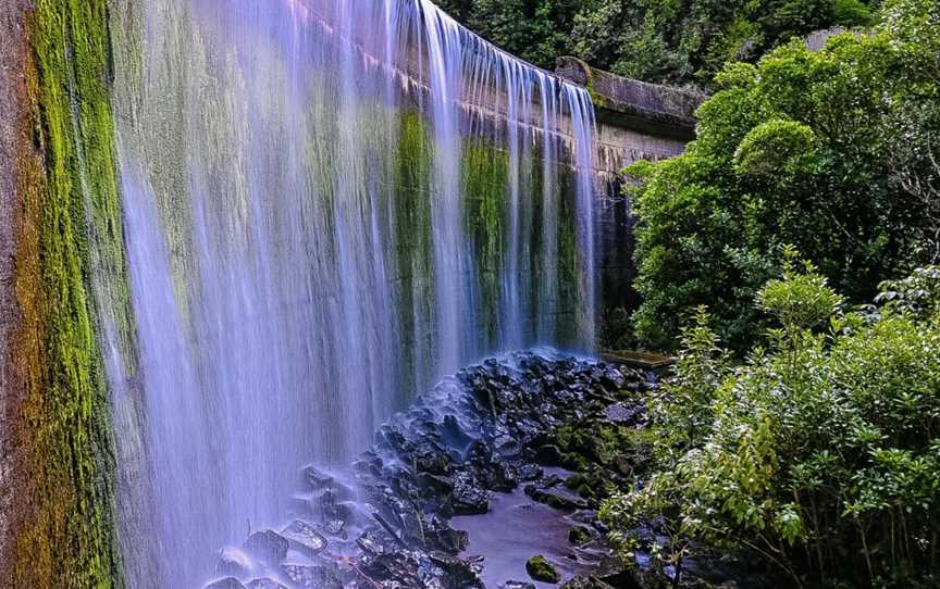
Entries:
<svg viewBox="0 0 940 589">
<path fill-rule="evenodd" d="M 437 0 L 496 45 L 553 68 L 559 55 L 648 82 L 704 83 L 794 37 L 865 26 L 878 0 Z"/>
</svg>

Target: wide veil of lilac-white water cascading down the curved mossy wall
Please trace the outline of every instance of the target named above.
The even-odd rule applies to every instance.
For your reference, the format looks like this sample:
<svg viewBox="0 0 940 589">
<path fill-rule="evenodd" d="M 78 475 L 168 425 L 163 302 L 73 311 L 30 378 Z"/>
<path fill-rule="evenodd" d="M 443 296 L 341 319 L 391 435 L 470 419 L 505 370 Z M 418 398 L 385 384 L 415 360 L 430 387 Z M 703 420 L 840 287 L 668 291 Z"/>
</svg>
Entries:
<svg viewBox="0 0 940 589">
<path fill-rule="evenodd" d="M 114 2 L 122 547 L 191 587 L 442 375 L 590 351 L 593 108 L 429 0 Z"/>
</svg>

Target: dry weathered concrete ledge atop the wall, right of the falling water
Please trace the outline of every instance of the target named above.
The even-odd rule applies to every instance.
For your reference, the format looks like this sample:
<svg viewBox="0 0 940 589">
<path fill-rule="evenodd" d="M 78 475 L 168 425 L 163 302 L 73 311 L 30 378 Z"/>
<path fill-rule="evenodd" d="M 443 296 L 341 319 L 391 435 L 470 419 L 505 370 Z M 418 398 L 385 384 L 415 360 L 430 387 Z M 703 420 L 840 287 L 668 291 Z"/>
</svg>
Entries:
<svg viewBox="0 0 940 589">
<path fill-rule="evenodd" d="M 577 58 L 558 58 L 555 73 L 588 88 L 603 123 L 660 137 L 695 138 L 695 109 L 707 98 L 704 93 L 626 78 Z"/>
</svg>

